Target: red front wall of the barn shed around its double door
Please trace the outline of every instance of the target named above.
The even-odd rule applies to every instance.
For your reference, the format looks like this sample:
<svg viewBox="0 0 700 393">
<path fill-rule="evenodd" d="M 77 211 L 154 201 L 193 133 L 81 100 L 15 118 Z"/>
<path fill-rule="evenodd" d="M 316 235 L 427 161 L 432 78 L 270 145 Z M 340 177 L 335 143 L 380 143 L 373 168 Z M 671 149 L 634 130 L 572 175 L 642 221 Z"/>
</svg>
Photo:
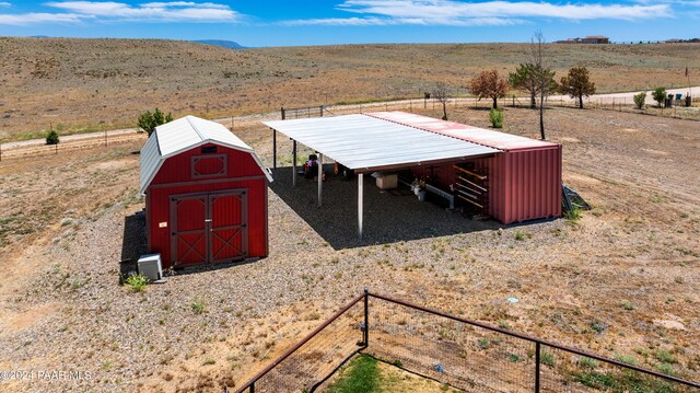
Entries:
<svg viewBox="0 0 700 393">
<path fill-rule="evenodd" d="M 152 253 L 161 254 L 164 268 L 170 267 L 173 261 L 170 200 L 174 195 L 246 189 L 247 256 L 268 255 L 267 178 L 249 153 L 221 146 L 217 148 L 217 154 L 226 154 L 228 158 L 225 175 L 192 177 L 191 158 L 201 154 L 198 147 L 167 159 L 147 189 L 149 248 Z M 199 162 L 198 170 L 202 170 L 202 165 L 206 166 L 207 161 Z M 212 165 L 218 164 L 212 161 Z M 222 211 L 226 209 L 214 209 L 213 215 Z M 224 217 L 213 217 L 213 220 L 226 222 Z M 167 222 L 167 227 L 161 228 L 162 222 Z"/>
</svg>

